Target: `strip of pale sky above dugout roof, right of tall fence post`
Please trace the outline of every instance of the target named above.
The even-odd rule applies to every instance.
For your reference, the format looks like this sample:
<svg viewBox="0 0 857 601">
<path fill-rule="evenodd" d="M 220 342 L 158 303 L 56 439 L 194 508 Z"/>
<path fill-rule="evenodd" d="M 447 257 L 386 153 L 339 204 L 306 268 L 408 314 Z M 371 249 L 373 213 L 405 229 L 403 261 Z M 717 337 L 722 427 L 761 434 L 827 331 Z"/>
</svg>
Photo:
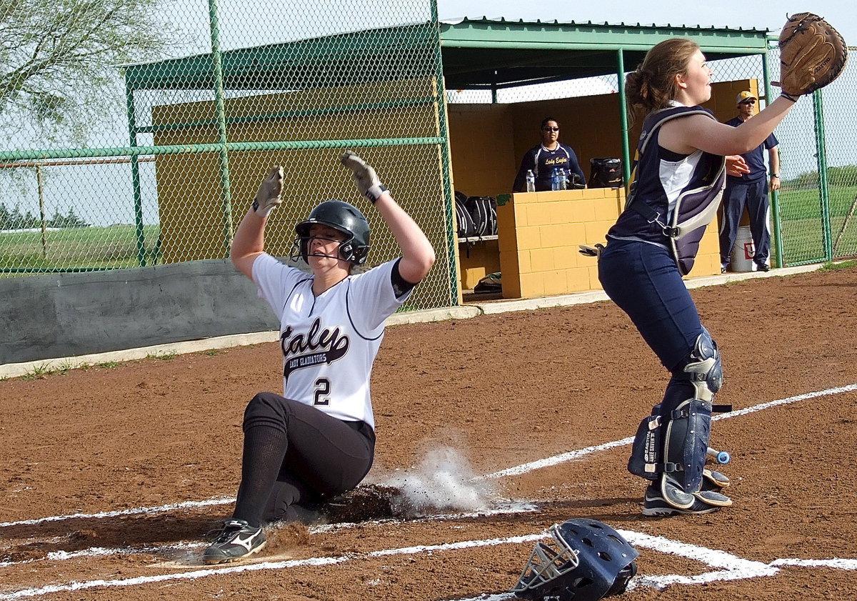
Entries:
<svg viewBox="0 0 857 601">
<path fill-rule="evenodd" d="M 779 33 L 786 15 L 812 12 L 836 27 L 848 45 L 857 45 L 857 19 L 853 0 L 827 2 L 772 2 L 761 0 L 728 0 L 710 3 L 659 0 L 608 0 L 601 3 L 566 2 L 531 5 L 520 0 L 438 0 L 440 19 L 468 16 L 476 18 L 506 17 L 525 21 L 542 19 L 558 21 L 594 21 L 608 23 L 641 23 L 649 25 L 700 25 L 703 27 L 745 27 L 770 29 Z"/>
</svg>

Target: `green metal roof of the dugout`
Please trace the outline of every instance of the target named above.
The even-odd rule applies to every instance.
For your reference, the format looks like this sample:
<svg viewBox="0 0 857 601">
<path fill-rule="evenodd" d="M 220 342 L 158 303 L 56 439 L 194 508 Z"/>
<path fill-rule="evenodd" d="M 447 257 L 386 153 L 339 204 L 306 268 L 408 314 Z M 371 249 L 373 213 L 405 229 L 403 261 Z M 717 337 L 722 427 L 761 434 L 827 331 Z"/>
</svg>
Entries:
<svg viewBox="0 0 857 601">
<path fill-rule="evenodd" d="M 441 21 L 439 27 L 448 89 L 500 89 L 616 74 L 624 65 L 625 70 L 633 69 L 651 46 L 674 37 L 696 40 L 709 60 L 763 54 L 768 48 L 768 30 L 754 28 L 486 17 Z M 348 85 L 358 77 L 363 82 L 390 81 L 411 70 L 395 60 L 401 56 L 399 48 L 424 45 L 428 51 L 435 44 L 431 28 L 420 23 L 224 51 L 223 84 L 233 90 L 275 90 L 295 81 L 291 73 L 309 70 L 318 74 L 315 86 Z M 343 47 L 353 52 L 345 57 Z M 355 58 L 365 65 L 359 73 L 347 68 Z M 210 53 L 129 64 L 123 69 L 130 90 L 211 89 L 214 85 Z"/>
</svg>

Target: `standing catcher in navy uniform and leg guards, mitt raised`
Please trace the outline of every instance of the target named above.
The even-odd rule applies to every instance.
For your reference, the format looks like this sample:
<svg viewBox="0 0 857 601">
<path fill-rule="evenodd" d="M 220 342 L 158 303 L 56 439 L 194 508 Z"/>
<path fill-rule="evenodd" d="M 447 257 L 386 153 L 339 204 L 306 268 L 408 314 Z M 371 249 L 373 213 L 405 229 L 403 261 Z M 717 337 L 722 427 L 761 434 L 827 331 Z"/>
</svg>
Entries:
<svg viewBox="0 0 857 601">
<path fill-rule="evenodd" d="M 699 46 L 668 39 L 627 75 L 629 105 L 646 114 L 626 207 L 598 261 L 604 291 L 669 371 L 663 399 L 632 445 L 628 470 L 646 478 L 643 514 L 707 514 L 728 507 L 728 478 L 705 469 L 720 351 L 700 322 L 682 276 L 716 213 L 725 157 L 758 147 L 800 96 L 836 79 L 846 46 L 816 15 L 789 19 L 781 36 L 782 94 L 738 127 L 700 107 L 712 71 Z"/>
</svg>

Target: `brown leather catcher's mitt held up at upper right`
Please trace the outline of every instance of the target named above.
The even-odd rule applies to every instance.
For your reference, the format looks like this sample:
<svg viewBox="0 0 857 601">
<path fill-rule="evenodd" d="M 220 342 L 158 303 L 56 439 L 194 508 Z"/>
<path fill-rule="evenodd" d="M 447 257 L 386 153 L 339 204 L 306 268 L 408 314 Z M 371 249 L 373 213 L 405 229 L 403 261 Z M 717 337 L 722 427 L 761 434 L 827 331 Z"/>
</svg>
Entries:
<svg viewBox="0 0 857 601">
<path fill-rule="evenodd" d="M 830 23 L 812 13 L 798 13 L 780 33 L 782 95 L 796 100 L 835 80 L 845 69 L 848 46 Z"/>
</svg>

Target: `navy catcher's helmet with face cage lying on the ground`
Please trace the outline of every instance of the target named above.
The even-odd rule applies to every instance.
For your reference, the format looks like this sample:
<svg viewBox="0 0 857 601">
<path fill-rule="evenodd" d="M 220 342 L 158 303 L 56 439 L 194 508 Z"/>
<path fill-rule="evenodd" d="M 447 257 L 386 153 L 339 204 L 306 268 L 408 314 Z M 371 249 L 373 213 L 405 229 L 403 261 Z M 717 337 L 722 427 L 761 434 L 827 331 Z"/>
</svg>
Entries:
<svg viewBox="0 0 857 601">
<path fill-rule="evenodd" d="M 637 574 L 639 555 L 619 532 L 596 520 L 568 520 L 548 530 L 549 543 L 536 543 L 516 596 L 551 601 L 597 601 L 625 592 Z"/>
</svg>

